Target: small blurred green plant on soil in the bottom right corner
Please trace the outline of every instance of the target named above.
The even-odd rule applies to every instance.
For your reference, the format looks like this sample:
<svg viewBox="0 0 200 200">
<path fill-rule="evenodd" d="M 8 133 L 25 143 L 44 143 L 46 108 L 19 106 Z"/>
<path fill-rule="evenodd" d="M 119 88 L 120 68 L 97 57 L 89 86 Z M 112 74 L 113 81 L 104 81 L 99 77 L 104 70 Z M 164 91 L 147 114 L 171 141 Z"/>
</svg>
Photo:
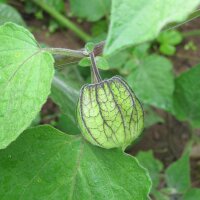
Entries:
<svg viewBox="0 0 200 200">
<path fill-rule="evenodd" d="M 190 148 L 186 149 L 181 158 L 166 170 L 162 163 L 154 158 L 152 151 L 138 153 L 137 159 L 149 170 L 152 180 L 151 194 L 156 200 L 199 198 L 200 189 L 193 188 L 190 180 Z M 165 182 L 165 187 L 159 186 L 161 181 Z"/>
</svg>

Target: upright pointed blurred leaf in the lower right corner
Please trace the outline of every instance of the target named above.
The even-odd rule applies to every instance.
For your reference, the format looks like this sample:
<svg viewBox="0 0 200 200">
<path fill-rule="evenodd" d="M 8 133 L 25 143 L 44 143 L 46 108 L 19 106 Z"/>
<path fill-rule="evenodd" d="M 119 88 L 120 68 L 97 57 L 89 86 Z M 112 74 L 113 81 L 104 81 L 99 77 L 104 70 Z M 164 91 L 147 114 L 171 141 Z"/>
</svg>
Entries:
<svg viewBox="0 0 200 200">
<path fill-rule="evenodd" d="M 190 163 L 189 153 L 185 152 L 182 157 L 172 163 L 165 171 L 168 187 L 177 192 L 185 192 L 190 188 Z"/>
</svg>

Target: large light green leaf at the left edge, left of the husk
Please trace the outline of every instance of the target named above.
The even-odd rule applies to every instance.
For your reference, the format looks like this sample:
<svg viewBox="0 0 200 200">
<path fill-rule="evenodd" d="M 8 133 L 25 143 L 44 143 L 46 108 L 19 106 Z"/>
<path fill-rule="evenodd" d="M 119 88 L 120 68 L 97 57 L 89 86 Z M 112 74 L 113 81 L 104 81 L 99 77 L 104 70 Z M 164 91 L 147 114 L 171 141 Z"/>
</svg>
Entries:
<svg viewBox="0 0 200 200">
<path fill-rule="evenodd" d="M 5 148 L 45 103 L 54 61 L 33 35 L 18 25 L 1 26 L 0 43 L 0 148 Z"/>
</svg>

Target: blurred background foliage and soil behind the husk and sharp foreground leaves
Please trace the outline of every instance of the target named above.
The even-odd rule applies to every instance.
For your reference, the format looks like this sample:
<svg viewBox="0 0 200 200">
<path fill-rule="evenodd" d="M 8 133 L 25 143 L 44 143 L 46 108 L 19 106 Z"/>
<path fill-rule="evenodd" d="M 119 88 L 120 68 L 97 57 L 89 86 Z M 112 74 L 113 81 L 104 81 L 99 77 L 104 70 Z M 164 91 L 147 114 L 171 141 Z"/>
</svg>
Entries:
<svg viewBox="0 0 200 200">
<path fill-rule="evenodd" d="M 42 46 L 79 49 L 85 42 L 106 40 L 110 9 L 110 0 L 0 0 L 0 24 L 12 21 L 27 27 Z M 137 154 L 149 170 L 152 198 L 158 200 L 200 197 L 198 16 L 194 11 L 185 22 L 164 27 L 157 37 L 150 32 L 148 42 L 132 29 L 140 44 L 116 52 L 116 44 L 106 44 L 107 52 L 114 53 L 97 58 L 102 77 L 122 76 L 143 104 L 144 133 L 128 152 Z M 90 63 L 87 58 L 55 59 L 51 95 L 31 126 L 50 123 L 78 134 L 76 102 L 81 86 L 91 81 Z"/>
</svg>

